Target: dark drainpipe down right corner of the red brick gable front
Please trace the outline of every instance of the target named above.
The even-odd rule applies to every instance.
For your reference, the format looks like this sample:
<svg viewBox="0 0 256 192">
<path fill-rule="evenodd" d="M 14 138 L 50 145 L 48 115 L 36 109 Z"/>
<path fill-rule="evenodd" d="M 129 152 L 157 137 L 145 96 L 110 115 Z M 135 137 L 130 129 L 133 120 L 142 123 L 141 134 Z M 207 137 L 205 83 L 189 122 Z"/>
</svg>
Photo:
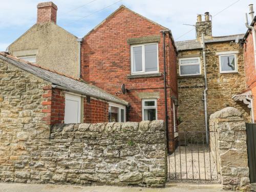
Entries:
<svg viewBox="0 0 256 192">
<path fill-rule="evenodd" d="M 167 91 L 166 91 L 166 63 L 165 63 L 165 32 L 169 30 L 160 31 L 163 33 L 163 80 L 164 80 L 164 104 L 165 104 L 165 127 L 166 127 L 166 139 L 169 144 L 169 130 L 168 130 L 168 113 L 167 113 Z M 169 147 L 167 146 L 167 151 L 169 153 Z"/>
</svg>

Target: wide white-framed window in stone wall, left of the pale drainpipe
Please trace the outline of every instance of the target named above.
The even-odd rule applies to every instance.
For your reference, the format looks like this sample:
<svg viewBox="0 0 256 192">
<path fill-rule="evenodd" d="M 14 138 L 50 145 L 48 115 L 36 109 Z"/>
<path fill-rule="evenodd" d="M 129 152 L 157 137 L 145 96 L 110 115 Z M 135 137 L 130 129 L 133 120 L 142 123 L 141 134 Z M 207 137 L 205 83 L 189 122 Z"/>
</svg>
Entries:
<svg viewBox="0 0 256 192">
<path fill-rule="evenodd" d="M 180 58 L 180 76 L 201 75 L 200 57 Z"/>
</svg>

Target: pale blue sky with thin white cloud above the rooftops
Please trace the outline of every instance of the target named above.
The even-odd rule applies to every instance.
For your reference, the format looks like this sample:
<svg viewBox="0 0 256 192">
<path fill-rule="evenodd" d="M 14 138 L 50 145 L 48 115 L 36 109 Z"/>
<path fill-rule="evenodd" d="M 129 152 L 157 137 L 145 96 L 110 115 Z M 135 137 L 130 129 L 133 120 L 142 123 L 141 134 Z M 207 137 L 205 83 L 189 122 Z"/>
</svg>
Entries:
<svg viewBox="0 0 256 192">
<path fill-rule="evenodd" d="M 105 17 L 118 9 L 120 5 L 124 5 L 154 22 L 169 28 L 172 30 L 175 41 L 180 41 L 195 39 L 194 27 L 188 25 L 195 25 L 197 14 L 204 14 L 207 11 L 213 16 L 212 34 L 214 36 L 245 33 L 247 29 L 244 25 L 244 15 L 248 12 L 248 5 L 253 4 L 255 0 L 52 1 L 58 7 L 57 25 L 77 37 L 83 37 L 104 20 Z M 14 40 L 36 23 L 36 5 L 44 1 L 0 0 L 0 2 L 0 51 L 5 51 Z M 222 11 L 225 8 L 227 9 Z M 256 12 L 256 4 L 254 10 Z M 191 31 L 188 32 L 189 30 Z"/>
</svg>

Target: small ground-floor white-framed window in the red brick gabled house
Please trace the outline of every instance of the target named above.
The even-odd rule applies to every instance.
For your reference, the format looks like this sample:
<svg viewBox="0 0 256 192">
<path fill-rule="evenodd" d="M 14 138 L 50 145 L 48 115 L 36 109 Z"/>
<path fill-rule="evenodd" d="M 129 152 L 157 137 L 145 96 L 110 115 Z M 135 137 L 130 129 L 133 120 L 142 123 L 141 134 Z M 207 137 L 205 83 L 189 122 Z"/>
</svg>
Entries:
<svg viewBox="0 0 256 192">
<path fill-rule="evenodd" d="M 157 99 L 142 99 L 142 120 L 157 120 Z"/>
</svg>

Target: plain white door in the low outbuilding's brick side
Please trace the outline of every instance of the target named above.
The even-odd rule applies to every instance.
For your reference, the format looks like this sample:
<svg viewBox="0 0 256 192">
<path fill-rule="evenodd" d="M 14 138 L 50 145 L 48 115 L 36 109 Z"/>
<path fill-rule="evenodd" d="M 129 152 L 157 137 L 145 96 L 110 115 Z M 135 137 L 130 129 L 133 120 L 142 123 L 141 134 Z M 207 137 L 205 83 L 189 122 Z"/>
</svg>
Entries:
<svg viewBox="0 0 256 192">
<path fill-rule="evenodd" d="M 80 123 L 81 97 L 65 94 L 65 123 Z"/>
</svg>

